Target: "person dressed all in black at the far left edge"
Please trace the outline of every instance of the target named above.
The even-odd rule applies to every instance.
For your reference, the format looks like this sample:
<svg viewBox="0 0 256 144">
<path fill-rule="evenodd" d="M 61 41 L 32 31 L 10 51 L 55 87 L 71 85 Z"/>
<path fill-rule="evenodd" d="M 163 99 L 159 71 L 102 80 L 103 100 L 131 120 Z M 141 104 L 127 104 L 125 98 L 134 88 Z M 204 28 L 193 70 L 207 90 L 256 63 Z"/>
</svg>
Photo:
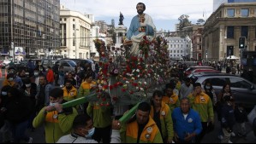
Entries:
<svg viewBox="0 0 256 144">
<path fill-rule="evenodd" d="M 32 102 L 29 98 L 23 95 L 20 89 L 10 88 L 8 90 L 8 98 L 4 103 L 2 111 L 5 120 L 10 125 L 12 131 L 12 139 L 15 143 L 27 141 L 32 143 L 33 138 L 26 135 L 28 119 L 32 113 Z"/>
</svg>

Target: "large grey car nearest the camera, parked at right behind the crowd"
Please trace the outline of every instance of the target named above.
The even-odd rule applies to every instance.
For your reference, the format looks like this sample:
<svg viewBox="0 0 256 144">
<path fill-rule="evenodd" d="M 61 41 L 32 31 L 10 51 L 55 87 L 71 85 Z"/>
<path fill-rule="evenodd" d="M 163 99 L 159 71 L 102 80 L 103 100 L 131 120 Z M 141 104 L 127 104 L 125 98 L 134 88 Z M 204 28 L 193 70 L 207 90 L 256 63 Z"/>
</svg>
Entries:
<svg viewBox="0 0 256 144">
<path fill-rule="evenodd" d="M 205 81 L 210 81 L 218 95 L 223 89 L 223 84 L 230 84 L 235 103 L 243 103 L 247 108 L 252 109 L 256 105 L 256 85 L 245 78 L 227 73 L 196 73 L 190 74 L 193 83 L 205 85 Z"/>
</svg>

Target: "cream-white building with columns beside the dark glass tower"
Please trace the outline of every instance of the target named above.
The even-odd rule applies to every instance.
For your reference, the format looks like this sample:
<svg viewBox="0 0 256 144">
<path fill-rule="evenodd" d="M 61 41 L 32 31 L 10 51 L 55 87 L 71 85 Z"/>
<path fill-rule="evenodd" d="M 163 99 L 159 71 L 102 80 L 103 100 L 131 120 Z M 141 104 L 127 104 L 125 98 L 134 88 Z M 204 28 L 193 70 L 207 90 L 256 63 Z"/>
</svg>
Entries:
<svg viewBox="0 0 256 144">
<path fill-rule="evenodd" d="M 92 20 L 88 16 L 61 6 L 61 46 L 56 50 L 56 55 L 73 59 L 89 59 L 91 27 Z"/>
</svg>

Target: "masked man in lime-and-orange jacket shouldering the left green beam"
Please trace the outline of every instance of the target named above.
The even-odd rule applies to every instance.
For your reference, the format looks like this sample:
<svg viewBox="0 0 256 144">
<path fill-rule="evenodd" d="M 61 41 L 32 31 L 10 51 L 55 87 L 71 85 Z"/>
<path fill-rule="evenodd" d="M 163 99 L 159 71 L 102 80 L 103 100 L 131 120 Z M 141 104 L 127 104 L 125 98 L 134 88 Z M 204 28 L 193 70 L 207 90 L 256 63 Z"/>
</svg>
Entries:
<svg viewBox="0 0 256 144">
<path fill-rule="evenodd" d="M 45 124 L 46 143 L 55 143 L 63 135 L 68 135 L 72 130 L 75 116 L 78 114 L 74 107 L 64 108 L 62 104 L 63 89 L 55 88 L 50 92 L 50 105 L 42 108 L 33 119 L 33 127 L 39 128 Z"/>
</svg>

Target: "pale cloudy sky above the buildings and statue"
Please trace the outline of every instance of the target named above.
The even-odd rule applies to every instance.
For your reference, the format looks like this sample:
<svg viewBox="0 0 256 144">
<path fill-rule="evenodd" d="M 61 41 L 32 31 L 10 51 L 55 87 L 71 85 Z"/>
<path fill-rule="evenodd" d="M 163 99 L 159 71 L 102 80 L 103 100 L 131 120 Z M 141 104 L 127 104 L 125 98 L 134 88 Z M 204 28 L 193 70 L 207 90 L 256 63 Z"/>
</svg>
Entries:
<svg viewBox="0 0 256 144">
<path fill-rule="evenodd" d="M 119 14 L 124 16 L 123 24 L 129 27 L 131 19 L 137 14 L 136 4 L 146 4 L 146 14 L 150 14 L 158 31 L 175 31 L 175 24 L 182 14 L 188 14 L 189 20 L 196 23 L 206 20 L 212 13 L 213 0 L 61 0 L 65 8 L 82 14 L 93 14 L 95 20 L 105 20 L 111 24 L 119 22 Z"/>
</svg>

